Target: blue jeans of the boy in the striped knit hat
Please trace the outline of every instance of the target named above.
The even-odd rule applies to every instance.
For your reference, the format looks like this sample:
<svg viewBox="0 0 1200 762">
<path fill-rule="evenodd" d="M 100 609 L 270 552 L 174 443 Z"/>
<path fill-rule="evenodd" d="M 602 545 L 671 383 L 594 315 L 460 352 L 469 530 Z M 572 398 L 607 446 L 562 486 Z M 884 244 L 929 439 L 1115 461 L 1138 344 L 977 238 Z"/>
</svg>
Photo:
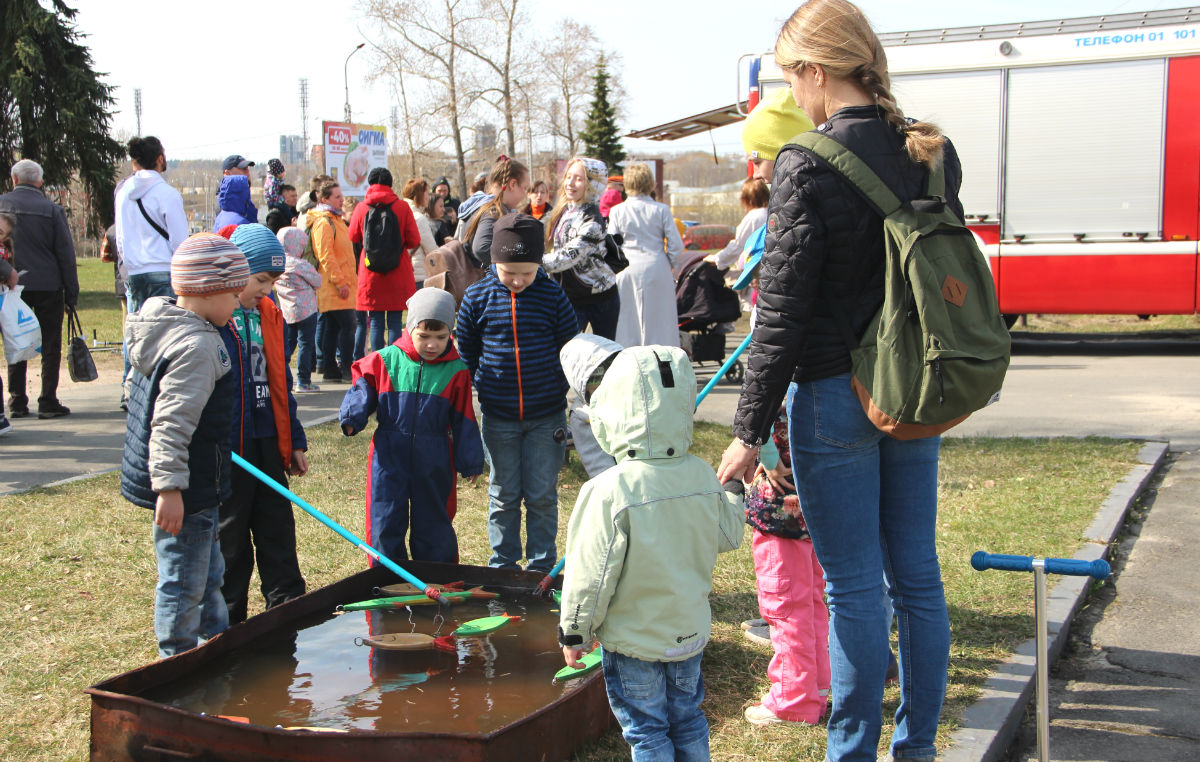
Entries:
<svg viewBox="0 0 1200 762">
<path fill-rule="evenodd" d="M 158 586 L 154 596 L 154 634 L 166 659 L 196 648 L 229 626 L 221 596 L 224 559 L 217 534 L 218 509 L 187 514 L 178 535 L 154 527 Z"/>
</svg>

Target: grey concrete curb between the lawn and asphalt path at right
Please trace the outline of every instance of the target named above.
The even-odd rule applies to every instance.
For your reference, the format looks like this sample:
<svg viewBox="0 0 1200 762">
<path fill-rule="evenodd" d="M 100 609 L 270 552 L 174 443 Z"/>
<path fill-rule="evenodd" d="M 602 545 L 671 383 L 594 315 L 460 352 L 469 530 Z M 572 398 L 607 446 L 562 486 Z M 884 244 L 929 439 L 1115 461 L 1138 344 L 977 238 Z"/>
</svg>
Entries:
<svg viewBox="0 0 1200 762">
<path fill-rule="evenodd" d="M 1075 558 L 1096 560 L 1109 554 L 1109 546 L 1121 530 L 1126 514 L 1166 458 L 1166 442 L 1147 442 L 1138 452 L 1139 464 L 1118 482 L 1084 532 L 1084 547 Z M 1087 596 L 1090 577 L 1058 577 L 1046 596 L 1050 666 L 1067 643 L 1070 623 Z M 1032 586 L 1031 586 L 1032 595 Z M 1013 655 L 996 666 L 984 683 L 979 698 L 962 713 L 942 762 L 998 762 L 1004 757 L 1021 726 L 1025 707 L 1033 698 L 1037 643 L 1030 638 Z"/>
</svg>

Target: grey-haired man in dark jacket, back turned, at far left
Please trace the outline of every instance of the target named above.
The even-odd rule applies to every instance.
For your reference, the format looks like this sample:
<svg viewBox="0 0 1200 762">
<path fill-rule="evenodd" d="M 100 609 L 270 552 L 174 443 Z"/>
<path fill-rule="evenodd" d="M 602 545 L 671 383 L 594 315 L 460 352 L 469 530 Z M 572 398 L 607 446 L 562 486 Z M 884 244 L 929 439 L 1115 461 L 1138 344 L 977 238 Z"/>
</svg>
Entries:
<svg viewBox="0 0 1200 762">
<path fill-rule="evenodd" d="M 37 418 L 59 418 L 71 410 L 59 402 L 59 365 L 62 360 L 62 316 L 79 300 L 74 244 L 62 208 L 42 192 L 42 167 L 23 158 L 12 166 L 13 190 L 0 196 L 0 211 L 17 217 L 12 233 L 13 266 L 25 287 L 20 298 L 42 326 L 42 394 Z M 29 415 L 25 364 L 8 366 L 8 412 Z"/>
</svg>

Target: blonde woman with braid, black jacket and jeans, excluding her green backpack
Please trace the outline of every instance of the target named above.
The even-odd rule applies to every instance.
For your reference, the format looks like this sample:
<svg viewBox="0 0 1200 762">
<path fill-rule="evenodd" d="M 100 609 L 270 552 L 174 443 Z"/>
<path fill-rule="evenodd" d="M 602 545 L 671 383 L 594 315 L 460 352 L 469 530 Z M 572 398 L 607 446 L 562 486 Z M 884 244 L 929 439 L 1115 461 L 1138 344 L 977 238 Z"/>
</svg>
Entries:
<svg viewBox="0 0 1200 762">
<path fill-rule="evenodd" d="M 934 125 L 905 118 L 883 47 L 857 7 L 805 2 L 784 24 L 775 60 L 816 130 L 862 157 L 901 200 L 922 196 L 929 169 L 944 164 L 947 203 L 962 217 L 954 146 Z M 884 571 L 900 630 L 895 760 L 935 758 L 946 695 L 950 630 L 935 545 L 940 439 L 892 439 L 868 420 L 850 386 L 841 331 L 857 337 L 866 329 L 883 301 L 883 269 L 880 215 L 811 154 L 785 145 L 775 160 L 736 439 L 718 478 L 749 480 L 786 396 L 794 484 L 829 595 L 826 758 L 834 762 L 877 755 Z M 780 721 L 762 704 L 745 715 L 756 725 Z"/>
</svg>

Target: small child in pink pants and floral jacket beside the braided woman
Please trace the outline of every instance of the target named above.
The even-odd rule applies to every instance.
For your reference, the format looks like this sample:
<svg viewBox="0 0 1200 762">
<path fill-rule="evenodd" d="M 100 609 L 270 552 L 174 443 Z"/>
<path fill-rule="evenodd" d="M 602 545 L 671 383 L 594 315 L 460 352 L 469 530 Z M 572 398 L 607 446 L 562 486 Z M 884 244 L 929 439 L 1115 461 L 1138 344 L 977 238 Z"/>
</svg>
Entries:
<svg viewBox="0 0 1200 762">
<path fill-rule="evenodd" d="M 780 409 L 755 480 L 746 487 L 746 523 L 754 527 L 758 611 L 770 625 L 775 655 L 767 667 L 770 690 L 748 707 L 755 725 L 780 721 L 816 725 L 829 696 L 829 611 L 824 574 L 791 487 L 787 415 Z M 785 484 L 781 484 L 785 482 Z"/>
</svg>

